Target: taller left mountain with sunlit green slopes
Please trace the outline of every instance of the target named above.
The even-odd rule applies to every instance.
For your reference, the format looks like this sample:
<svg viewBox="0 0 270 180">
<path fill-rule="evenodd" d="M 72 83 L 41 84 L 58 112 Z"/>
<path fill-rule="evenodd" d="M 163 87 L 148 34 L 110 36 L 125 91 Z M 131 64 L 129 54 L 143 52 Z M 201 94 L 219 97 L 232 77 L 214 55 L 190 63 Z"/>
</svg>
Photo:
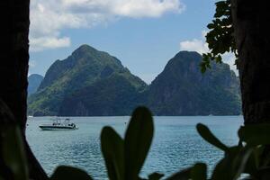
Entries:
<svg viewBox="0 0 270 180">
<path fill-rule="evenodd" d="M 106 84 L 108 79 L 112 79 L 113 76 L 120 76 L 121 82 L 128 83 L 130 88 L 134 91 L 130 92 L 129 96 L 137 96 L 141 92 L 148 88 L 142 80 L 137 76 L 130 74 L 128 68 L 121 65 L 121 61 L 112 57 L 106 52 L 99 51 L 88 45 L 82 45 L 76 49 L 71 56 L 64 60 L 57 60 L 51 67 L 49 67 L 46 76 L 40 84 L 39 90 L 36 94 L 32 94 L 29 99 L 29 114 L 33 115 L 87 115 L 93 114 L 94 110 L 89 104 L 94 102 L 96 108 L 100 109 L 101 114 L 113 115 L 112 112 L 108 112 L 103 108 L 103 103 L 110 103 L 109 96 L 115 96 L 119 93 L 117 90 L 114 92 L 107 89 L 106 94 L 102 93 L 101 89 L 96 89 L 95 85 L 101 84 L 104 87 L 112 87 L 111 85 L 119 85 L 121 88 L 121 82 L 118 84 Z M 91 96 L 90 89 L 95 92 L 94 96 Z M 121 90 L 121 89 L 118 89 Z M 89 102 L 80 101 L 80 97 L 83 95 L 83 99 Z M 89 96 L 90 95 L 90 96 Z M 80 97 L 79 97 L 80 96 Z M 87 96 L 88 98 L 85 98 Z M 107 96 L 107 99 L 106 99 Z M 122 97 L 125 98 L 130 97 Z M 113 99 L 113 98 L 112 98 Z M 103 102 L 105 101 L 105 102 Z M 71 103 L 76 102 L 76 103 Z M 72 112 L 70 113 L 70 104 L 72 106 Z M 121 102 L 113 102 L 121 104 Z M 122 105 L 129 108 L 128 105 Z M 130 112 L 131 110 L 123 110 L 123 112 Z"/>
</svg>

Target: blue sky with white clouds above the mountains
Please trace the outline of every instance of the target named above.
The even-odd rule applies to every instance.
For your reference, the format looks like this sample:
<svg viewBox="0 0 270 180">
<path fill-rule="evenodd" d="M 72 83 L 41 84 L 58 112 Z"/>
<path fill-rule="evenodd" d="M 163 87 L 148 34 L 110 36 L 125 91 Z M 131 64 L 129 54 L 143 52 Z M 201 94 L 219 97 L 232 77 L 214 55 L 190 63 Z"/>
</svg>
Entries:
<svg viewBox="0 0 270 180">
<path fill-rule="evenodd" d="M 82 44 L 119 58 L 148 84 L 180 50 L 208 50 L 215 0 L 31 0 L 29 74 Z M 233 57 L 224 61 L 233 66 Z"/>
</svg>

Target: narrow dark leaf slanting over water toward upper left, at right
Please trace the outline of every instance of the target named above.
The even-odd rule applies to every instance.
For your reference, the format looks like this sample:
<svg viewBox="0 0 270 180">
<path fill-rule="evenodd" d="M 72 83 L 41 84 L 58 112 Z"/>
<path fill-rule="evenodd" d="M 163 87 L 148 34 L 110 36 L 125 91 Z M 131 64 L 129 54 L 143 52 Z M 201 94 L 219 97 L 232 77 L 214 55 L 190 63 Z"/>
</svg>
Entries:
<svg viewBox="0 0 270 180">
<path fill-rule="evenodd" d="M 211 133 L 207 126 L 203 125 L 202 123 L 198 123 L 196 128 L 202 138 L 209 142 L 211 145 L 220 148 L 223 151 L 228 150 L 228 147 L 225 146 L 222 142 L 220 142 L 220 140 Z"/>
</svg>

